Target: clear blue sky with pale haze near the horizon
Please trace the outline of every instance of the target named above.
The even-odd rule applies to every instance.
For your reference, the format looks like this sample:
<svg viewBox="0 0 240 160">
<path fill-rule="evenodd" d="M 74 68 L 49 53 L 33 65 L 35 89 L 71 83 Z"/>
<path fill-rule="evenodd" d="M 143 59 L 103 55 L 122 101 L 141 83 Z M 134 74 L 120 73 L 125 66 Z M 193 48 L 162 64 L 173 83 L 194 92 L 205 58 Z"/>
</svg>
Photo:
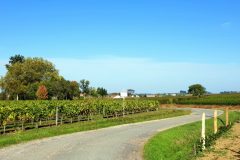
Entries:
<svg viewBox="0 0 240 160">
<path fill-rule="evenodd" d="M 239 0 L 2 0 L 0 75 L 14 54 L 110 92 L 240 91 Z"/>
</svg>

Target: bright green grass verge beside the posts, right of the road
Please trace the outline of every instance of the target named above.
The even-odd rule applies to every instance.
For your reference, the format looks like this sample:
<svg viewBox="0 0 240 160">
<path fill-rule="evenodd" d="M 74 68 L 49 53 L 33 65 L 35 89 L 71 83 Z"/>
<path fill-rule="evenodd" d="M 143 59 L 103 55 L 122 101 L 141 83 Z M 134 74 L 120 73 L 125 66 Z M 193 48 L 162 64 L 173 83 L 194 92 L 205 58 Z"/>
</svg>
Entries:
<svg viewBox="0 0 240 160">
<path fill-rule="evenodd" d="M 222 120 L 224 115 L 220 116 Z M 240 118 L 239 112 L 230 112 L 229 120 L 234 122 Z M 223 125 L 218 121 L 219 126 Z M 213 120 L 206 121 L 206 134 L 213 133 Z M 145 160 L 195 159 L 195 143 L 200 139 L 201 122 L 194 122 L 175 127 L 152 137 L 144 146 Z"/>
</svg>

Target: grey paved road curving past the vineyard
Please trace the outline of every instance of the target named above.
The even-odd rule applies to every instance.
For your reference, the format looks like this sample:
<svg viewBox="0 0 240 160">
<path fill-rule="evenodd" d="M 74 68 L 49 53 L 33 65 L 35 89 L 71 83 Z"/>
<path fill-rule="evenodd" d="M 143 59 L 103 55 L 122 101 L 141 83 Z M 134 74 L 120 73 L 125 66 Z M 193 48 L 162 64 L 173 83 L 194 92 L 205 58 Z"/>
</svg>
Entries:
<svg viewBox="0 0 240 160">
<path fill-rule="evenodd" d="M 207 117 L 213 115 L 212 110 L 191 110 L 191 115 L 78 132 L 6 147 L 0 149 L 0 160 L 140 160 L 144 143 L 156 132 L 199 121 L 202 112 Z"/>
</svg>

